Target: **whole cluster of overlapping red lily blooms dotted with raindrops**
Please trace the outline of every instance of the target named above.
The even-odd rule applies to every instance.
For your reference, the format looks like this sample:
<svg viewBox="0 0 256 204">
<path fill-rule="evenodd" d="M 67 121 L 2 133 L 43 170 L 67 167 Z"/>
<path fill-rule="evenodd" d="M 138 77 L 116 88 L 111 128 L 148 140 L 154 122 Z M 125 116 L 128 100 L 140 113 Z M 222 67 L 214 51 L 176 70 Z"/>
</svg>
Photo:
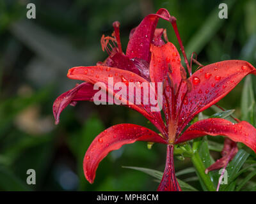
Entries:
<svg viewBox="0 0 256 204">
<path fill-rule="evenodd" d="M 184 55 L 189 78 L 186 77 L 177 48 L 170 42 L 164 43 L 161 39 L 164 30 L 156 29 L 159 18 L 172 23 Z M 56 123 L 59 122 L 61 111 L 68 104 L 74 105 L 80 100 L 92 101 L 95 94 L 93 84 L 97 82 L 108 84 L 108 77 L 113 77 L 114 84 L 138 82 L 147 84 L 150 89 L 152 87 L 149 82 L 163 82 L 163 112 L 166 124 L 160 112 L 150 110 L 152 105 L 143 103 L 127 105 L 150 120 L 161 135 L 135 124 L 118 124 L 100 133 L 84 156 L 84 175 L 90 183 L 95 179 L 100 161 L 110 151 L 136 141 L 167 145 L 166 167 L 163 179 L 157 188 L 158 191 L 181 190 L 173 166 L 173 145 L 177 143 L 204 135 L 223 135 L 235 142 L 243 142 L 256 152 L 256 129 L 245 121 L 233 124 L 225 119 L 204 119 L 195 122 L 182 133 L 196 114 L 220 101 L 243 77 L 250 73 L 255 74 L 256 69 L 252 64 L 238 60 L 222 61 L 204 66 L 191 75 L 191 67 L 177 31 L 176 19 L 164 9 L 148 15 L 138 27 L 132 30 L 126 54 L 121 48 L 119 24 L 115 22 L 113 26 L 115 29 L 113 37 L 102 37 L 102 47 L 109 53 L 106 61 L 98 62 L 97 66 L 69 69 L 68 78 L 85 82 L 65 92 L 54 101 L 53 113 Z M 166 37 L 165 40 L 168 41 Z M 106 86 L 106 91 L 127 101 L 126 98 L 118 95 L 118 91 L 113 87 Z"/>
</svg>

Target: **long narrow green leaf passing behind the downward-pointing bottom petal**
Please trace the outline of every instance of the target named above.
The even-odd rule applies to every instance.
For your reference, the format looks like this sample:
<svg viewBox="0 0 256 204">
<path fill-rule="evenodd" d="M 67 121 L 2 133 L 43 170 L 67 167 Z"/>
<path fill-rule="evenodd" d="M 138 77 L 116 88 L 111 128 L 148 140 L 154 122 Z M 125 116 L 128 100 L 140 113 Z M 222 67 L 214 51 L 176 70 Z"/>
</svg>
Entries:
<svg viewBox="0 0 256 204">
<path fill-rule="evenodd" d="M 161 179 L 163 177 L 163 172 L 157 171 L 157 170 L 151 170 L 149 168 L 141 168 L 141 167 L 136 167 L 136 166 L 122 166 L 122 167 L 123 168 L 130 168 L 132 170 L 142 171 L 142 172 L 147 173 L 148 175 L 156 178 L 157 181 L 161 181 Z M 179 185 L 180 185 L 182 191 L 198 191 L 197 189 L 195 189 L 193 186 L 190 186 L 186 182 L 183 182 L 180 179 L 177 179 L 177 180 L 179 182 Z"/>
</svg>

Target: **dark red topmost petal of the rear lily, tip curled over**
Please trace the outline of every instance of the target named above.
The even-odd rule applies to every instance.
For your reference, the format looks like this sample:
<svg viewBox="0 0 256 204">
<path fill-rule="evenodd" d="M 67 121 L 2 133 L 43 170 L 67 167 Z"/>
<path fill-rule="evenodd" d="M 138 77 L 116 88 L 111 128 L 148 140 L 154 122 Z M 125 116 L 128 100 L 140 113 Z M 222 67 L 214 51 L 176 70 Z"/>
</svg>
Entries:
<svg viewBox="0 0 256 204">
<path fill-rule="evenodd" d="M 159 18 L 164 20 L 170 19 L 170 14 L 164 8 L 157 11 L 156 14 L 150 14 L 145 17 L 140 25 L 132 31 L 131 38 L 127 45 L 126 55 L 132 58 L 144 59 L 145 61 L 150 61 L 150 43 L 154 38 L 154 32 L 156 30 L 156 25 Z"/>
</svg>

